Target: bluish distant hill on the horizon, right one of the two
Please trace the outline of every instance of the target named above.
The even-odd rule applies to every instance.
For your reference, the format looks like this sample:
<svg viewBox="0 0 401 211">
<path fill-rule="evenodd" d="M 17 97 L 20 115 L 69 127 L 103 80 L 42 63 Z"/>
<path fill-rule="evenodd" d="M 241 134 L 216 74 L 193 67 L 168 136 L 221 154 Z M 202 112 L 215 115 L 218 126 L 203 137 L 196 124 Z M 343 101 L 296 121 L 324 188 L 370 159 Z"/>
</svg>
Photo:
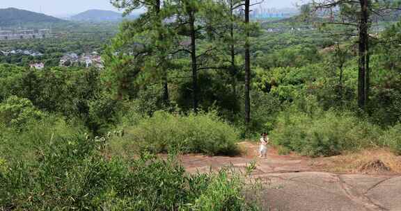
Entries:
<svg viewBox="0 0 401 211">
<path fill-rule="evenodd" d="M 131 15 L 124 18 L 134 19 L 135 17 Z M 72 16 L 71 19 L 79 22 L 118 22 L 123 19 L 123 14 L 110 10 L 88 10 Z"/>
</svg>

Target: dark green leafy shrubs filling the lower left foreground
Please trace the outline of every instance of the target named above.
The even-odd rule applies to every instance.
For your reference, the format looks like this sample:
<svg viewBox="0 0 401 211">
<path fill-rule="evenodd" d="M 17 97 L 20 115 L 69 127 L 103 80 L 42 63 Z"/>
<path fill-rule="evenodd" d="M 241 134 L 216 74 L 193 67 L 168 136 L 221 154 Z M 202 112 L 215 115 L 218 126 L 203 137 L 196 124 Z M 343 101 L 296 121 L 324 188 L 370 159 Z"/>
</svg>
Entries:
<svg viewBox="0 0 401 211">
<path fill-rule="evenodd" d="M 250 210 L 244 178 L 230 171 L 186 174 L 173 156 L 103 156 L 104 138 L 57 138 L 38 162 L 0 171 L 0 210 Z"/>
</svg>

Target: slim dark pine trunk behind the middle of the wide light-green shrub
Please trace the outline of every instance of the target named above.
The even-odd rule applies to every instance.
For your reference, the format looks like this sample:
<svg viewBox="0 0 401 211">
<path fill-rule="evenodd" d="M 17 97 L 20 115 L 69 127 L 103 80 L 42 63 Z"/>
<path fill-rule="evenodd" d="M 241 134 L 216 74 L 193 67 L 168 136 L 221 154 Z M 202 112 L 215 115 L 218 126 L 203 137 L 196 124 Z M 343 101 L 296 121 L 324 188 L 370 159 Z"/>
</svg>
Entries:
<svg viewBox="0 0 401 211">
<path fill-rule="evenodd" d="M 192 97 L 194 112 L 198 112 L 198 67 L 196 65 L 196 31 L 194 12 L 189 13 L 189 25 L 191 33 Z"/>
</svg>

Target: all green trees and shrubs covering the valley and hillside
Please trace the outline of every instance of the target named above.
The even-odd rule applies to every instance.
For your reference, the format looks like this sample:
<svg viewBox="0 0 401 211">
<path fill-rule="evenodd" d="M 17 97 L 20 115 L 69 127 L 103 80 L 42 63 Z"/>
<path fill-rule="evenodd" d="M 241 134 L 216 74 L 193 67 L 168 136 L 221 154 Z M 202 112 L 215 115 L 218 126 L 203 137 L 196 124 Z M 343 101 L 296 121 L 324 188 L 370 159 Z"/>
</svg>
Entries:
<svg viewBox="0 0 401 211">
<path fill-rule="evenodd" d="M 397 6 L 352 2 L 269 22 L 251 0 L 113 0 L 146 12 L 0 42 L 42 53 L 0 53 L 0 210 L 258 210 L 244 176 L 188 176 L 174 155 L 236 155 L 260 133 L 282 154 L 401 155 Z M 92 51 L 104 68 L 58 67 Z"/>
</svg>

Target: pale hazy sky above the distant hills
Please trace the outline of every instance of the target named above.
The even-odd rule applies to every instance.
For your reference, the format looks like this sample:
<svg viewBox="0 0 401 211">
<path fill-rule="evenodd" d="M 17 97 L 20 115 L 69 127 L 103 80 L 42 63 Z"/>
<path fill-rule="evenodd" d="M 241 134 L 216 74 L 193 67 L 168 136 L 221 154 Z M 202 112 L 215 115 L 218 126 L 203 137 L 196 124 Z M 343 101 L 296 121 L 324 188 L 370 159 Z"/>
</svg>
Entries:
<svg viewBox="0 0 401 211">
<path fill-rule="evenodd" d="M 265 0 L 274 8 L 291 7 L 299 0 Z M 0 0 L 0 8 L 19 8 L 47 15 L 71 15 L 90 9 L 116 10 L 109 0 Z"/>
</svg>

